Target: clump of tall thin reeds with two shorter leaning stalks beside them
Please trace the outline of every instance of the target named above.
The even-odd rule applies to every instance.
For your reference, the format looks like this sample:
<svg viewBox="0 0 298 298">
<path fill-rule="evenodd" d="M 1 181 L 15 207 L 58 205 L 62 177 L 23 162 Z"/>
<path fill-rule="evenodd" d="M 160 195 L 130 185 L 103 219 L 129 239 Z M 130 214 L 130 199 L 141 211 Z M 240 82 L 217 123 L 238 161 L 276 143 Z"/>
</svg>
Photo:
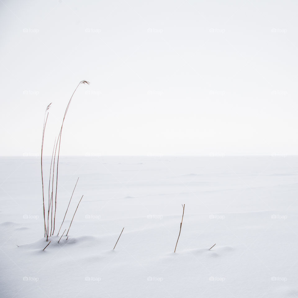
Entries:
<svg viewBox="0 0 298 298">
<path fill-rule="evenodd" d="M 55 231 L 56 207 L 57 207 L 57 188 L 58 188 L 58 166 L 59 166 L 59 155 L 60 155 L 61 134 L 62 134 L 63 124 L 64 124 L 64 120 L 65 120 L 65 117 L 66 117 L 68 108 L 70 106 L 70 102 L 72 100 L 72 97 L 74 96 L 74 94 L 75 94 L 75 92 L 78 89 L 78 87 L 79 87 L 80 84 L 87 84 L 87 85 L 89 85 L 90 83 L 88 81 L 81 81 L 81 82 L 79 82 L 78 86 L 75 88 L 75 91 L 72 93 L 72 95 L 70 97 L 70 100 L 68 102 L 68 105 L 66 107 L 65 113 L 64 113 L 64 117 L 63 117 L 63 120 L 62 120 L 61 129 L 60 129 L 58 138 L 55 139 L 55 143 L 54 143 L 54 147 L 53 147 L 52 160 L 51 160 L 51 166 L 50 166 L 49 189 L 48 189 L 47 221 L 46 221 L 45 195 L 44 195 L 44 183 L 43 183 L 43 180 L 44 180 L 43 179 L 43 142 L 44 142 L 46 125 L 47 125 L 47 118 L 48 118 L 48 115 L 49 115 L 49 112 L 47 112 L 47 111 L 49 110 L 52 102 L 47 106 L 46 111 L 44 113 L 44 118 L 43 118 L 43 137 L 42 137 L 42 144 L 41 144 L 41 181 L 42 181 L 42 188 L 43 188 L 44 237 L 47 237 L 47 240 L 48 240 L 48 237 L 51 236 L 51 235 L 53 235 L 54 234 L 54 231 Z M 56 140 L 57 140 L 57 142 L 56 142 Z M 59 144 L 59 146 L 58 146 L 58 144 Z M 57 153 L 57 149 L 58 149 L 58 153 Z M 55 150 L 55 152 L 54 152 L 54 150 Z M 56 167 L 55 167 L 56 153 L 57 153 L 57 163 L 56 163 Z M 52 177 L 52 191 L 51 191 L 51 177 Z M 56 185 L 54 183 L 54 178 L 56 178 Z M 77 183 L 78 183 L 78 181 L 77 181 Z M 75 184 L 75 185 L 77 185 L 77 184 Z M 75 191 L 75 189 L 74 189 L 74 191 Z M 72 195 L 73 195 L 73 193 L 72 193 Z M 71 195 L 71 198 L 72 198 L 72 195 Z M 55 207 L 53 206 L 54 205 L 54 202 L 53 202 L 54 196 L 55 196 Z M 71 198 L 70 198 L 70 201 L 71 201 Z M 82 200 L 82 198 L 81 198 L 81 200 Z M 69 204 L 70 204 L 70 202 L 69 202 Z M 69 207 L 69 204 L 68 204 L 68 207 Z M 68 207 L 67 207 L 67 210 L 68 210 Z M 77 209 L 78 209 L 78 207 L 77 207 Z M 67 210 L 66 210 L 66 212 L 67 212 Z M 54 214 L 53 214 L 53 211 L 54 211 Z M 66 212 L 65 212 L 65 216 L 66 216 Z M 49 233 L 50 213 L 51 213 L 51 230 L 50 230 L 50 233 Z M 65 216 L 64 216 L 64 219 L 65 219 Z M 62 224 L 64 222 L 64 219 L 62 221 Z M 61 227 L 62 227 L 62 224 L 61 224 Z M 61 229 L 61 227 L 60 227 L 60 229 Z M 60 231 L 60 229 L 59 229 L 59 231 Z M 59 232 L 58 232 L 58 234 L 59 234 Z"/>
</svg>

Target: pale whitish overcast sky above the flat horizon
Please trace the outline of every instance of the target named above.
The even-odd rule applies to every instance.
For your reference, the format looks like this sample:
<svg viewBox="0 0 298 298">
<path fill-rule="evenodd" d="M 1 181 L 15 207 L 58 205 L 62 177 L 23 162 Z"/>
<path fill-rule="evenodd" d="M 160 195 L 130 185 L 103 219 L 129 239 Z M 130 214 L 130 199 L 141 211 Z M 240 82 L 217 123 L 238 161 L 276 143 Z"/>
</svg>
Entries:
<svg viewBox="0 0 298 298">
<path fill-rule="evenodd" d="M 298 154 L 296 1 L 0 1 L 0 155 Z"/>
</svg>

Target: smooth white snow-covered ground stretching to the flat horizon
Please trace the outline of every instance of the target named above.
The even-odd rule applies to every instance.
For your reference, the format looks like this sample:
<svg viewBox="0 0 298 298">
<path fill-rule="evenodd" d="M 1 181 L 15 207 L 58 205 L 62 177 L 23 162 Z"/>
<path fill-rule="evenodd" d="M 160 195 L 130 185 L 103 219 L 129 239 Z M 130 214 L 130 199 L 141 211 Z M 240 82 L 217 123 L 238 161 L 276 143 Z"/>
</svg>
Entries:
<svg viewBox="0 0 298 298">
<path fill-rule="evenodd" d="M 298 157 L 61 157 L 45 251 L 39 158 L 0 162 L 0 297 L 298 297 Z"/>
</svg>

